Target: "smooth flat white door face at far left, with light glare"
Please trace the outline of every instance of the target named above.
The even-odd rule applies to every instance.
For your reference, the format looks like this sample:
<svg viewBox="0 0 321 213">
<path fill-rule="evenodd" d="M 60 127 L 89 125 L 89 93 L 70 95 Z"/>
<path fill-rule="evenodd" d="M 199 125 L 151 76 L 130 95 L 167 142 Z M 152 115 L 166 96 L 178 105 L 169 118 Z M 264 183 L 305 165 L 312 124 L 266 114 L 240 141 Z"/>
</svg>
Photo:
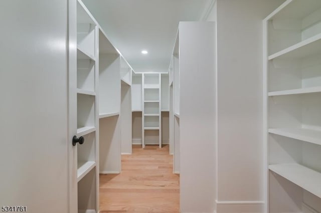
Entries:
<svg viewBox="0 0 321 213">
<path fill-rule="evenodd" d="M 65 0 L 0 1 L 0 207 L 68 212 L 66 24 Z"/>
</svg>

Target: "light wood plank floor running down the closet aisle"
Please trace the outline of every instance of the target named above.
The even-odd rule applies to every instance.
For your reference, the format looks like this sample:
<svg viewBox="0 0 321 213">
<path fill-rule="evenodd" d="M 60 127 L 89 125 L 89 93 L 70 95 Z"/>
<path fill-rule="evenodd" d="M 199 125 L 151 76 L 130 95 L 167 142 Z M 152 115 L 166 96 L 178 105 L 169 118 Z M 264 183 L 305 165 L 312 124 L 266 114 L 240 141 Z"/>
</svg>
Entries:
<svg viewBox="0 0 321 213">
<path fill-rule="evenodd" d="M 100 212 L 179 212 L 179 175 L 169 145 L 133 145 L 122 155 L 120 174 L 100 174 Z"/>
</svg>

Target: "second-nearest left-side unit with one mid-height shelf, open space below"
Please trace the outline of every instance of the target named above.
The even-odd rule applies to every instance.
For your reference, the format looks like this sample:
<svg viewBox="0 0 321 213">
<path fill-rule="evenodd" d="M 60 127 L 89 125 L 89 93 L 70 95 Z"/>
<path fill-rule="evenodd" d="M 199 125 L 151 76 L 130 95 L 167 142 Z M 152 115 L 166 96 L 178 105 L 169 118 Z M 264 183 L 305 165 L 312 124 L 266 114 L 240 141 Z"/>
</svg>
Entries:
<svg viewBox="0 0 321 213">
<path fill-rule="evenodd" d="M 99 173 L 121 170 L 120 57 L 99 27 Z"/>
</svg>

